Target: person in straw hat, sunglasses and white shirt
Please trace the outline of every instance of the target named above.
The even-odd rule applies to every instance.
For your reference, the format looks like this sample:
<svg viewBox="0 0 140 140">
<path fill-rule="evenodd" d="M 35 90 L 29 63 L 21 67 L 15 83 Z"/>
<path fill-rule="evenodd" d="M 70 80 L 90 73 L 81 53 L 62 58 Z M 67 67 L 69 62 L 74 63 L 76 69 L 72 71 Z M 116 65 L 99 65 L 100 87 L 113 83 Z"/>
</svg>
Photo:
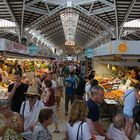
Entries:
<svg viewBox="0 0 140 140">
<path fill-rule="evenodd" d="M 31 139 L 34 126 L 38 122 L 39 112 L 44 108 L 44 103 L 38 100 L 39 96 L 35 87 L 29 87 L 26 93 L 27 100 L 21 105 L 20 115 L 24 118 L 24 133 L 22 135 L 27 140 Z"/>
</svg>

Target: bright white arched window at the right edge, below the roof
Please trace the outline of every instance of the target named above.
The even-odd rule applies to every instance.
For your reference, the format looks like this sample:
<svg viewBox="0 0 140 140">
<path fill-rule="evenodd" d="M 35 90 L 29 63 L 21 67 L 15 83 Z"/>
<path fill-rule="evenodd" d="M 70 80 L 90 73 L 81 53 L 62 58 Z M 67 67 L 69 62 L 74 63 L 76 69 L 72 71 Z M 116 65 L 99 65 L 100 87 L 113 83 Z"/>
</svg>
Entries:
<svg viewBox="0 0 140 140">
<path fill-rule="evenodd" d="M 125 22 L 123 27 L 139 28 L 140 27 L 140 20 L 136 19 L 136 20 L 132 20 L 129 22 Z"/>
</svg>

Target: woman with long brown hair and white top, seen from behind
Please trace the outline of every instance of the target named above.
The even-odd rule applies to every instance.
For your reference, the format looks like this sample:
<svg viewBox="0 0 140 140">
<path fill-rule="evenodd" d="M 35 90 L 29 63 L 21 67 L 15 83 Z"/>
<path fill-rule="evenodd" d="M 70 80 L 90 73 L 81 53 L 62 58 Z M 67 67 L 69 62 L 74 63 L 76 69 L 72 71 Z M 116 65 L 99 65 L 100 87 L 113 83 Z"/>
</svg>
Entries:
<svg viewBox="0 0 140 140">
<path fill-rule="evenodd" d="M 67 122 L 67 132 L 64 140 L 90 140 L 91 135 L 85 122 L 88 113 L 86 103 L 75 100 L 72 104 L 69 120 Z"/>
</svg>

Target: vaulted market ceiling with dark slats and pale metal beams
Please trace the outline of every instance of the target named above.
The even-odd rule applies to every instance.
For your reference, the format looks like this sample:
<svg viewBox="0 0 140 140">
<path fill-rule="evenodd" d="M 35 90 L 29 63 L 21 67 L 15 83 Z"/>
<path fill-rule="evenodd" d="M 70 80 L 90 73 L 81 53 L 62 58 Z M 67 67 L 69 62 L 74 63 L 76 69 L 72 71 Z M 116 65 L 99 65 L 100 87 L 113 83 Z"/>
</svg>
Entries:
<svg viewBox="0 0 140 140">
<path fill-rule="evenodd" d="M 75 46 L 65 46 L 60 14 L 68 9 L 79 15 Z M 0 0 L 0 19 L 13 21 L 17 26 L 15 34 L 0 28 L 0 37 L 18 42 L 19 35 L 28 35 L 34 29 L 70 54 L 111 39 L 140 40 L 139 28 L 123 27 L 125 22 L 139 18 L 139 0 Z"/>
</svg>

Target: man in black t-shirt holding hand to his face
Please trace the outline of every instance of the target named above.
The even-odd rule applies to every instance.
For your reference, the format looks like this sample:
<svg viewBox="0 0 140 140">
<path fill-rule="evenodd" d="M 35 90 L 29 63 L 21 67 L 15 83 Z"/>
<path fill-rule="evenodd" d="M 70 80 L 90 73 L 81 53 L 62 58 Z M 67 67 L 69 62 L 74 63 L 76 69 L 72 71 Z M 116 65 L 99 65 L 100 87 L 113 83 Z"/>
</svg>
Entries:
<svg viewBox="0 0 140 140">
<path fill-rule="evenodd" d="M 19 71 L 14 73 L 14 77 L 15 82 L 8 86 L 8 99 L 11 101 L 11 110 L 19 113 L 28 85 L 21 82 L 22 75 Z"/>
</svg>

